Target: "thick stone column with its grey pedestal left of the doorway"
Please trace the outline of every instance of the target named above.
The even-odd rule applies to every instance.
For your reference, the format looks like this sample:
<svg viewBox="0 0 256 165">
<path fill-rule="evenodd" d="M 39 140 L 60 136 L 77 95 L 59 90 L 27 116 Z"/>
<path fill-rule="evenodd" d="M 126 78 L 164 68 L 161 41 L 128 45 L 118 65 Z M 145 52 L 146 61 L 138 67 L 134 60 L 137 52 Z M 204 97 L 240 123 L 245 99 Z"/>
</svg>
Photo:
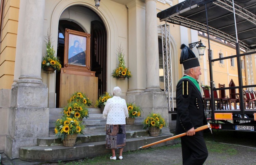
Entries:
<svg viewBox="0 0 256 165">
<path fill-rule="evenodd" d="M 11 158 L 19 156 L 19 148 L 34 146 L 38 137 L 49 135 L 48 90 L 41 78 L 43 23 L 45 0 L 23 0 L 25 7 L 20 77 L 12 88 L 8 111 L 8 133 L 4 152 Z M 24 9 L 21 9 L 24 10 Z"/>
</svg>

